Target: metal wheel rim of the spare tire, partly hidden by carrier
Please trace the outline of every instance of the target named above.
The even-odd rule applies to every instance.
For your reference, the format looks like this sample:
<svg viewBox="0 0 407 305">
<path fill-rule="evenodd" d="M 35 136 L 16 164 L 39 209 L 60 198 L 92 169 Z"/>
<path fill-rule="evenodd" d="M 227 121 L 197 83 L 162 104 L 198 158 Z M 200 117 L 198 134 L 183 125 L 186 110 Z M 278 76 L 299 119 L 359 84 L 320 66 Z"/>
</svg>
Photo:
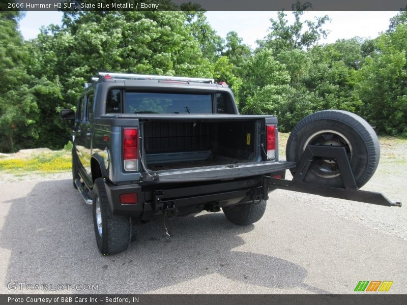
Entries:
<svg viewBox="0 0 407 305">
<path fill-rule="evenodd" d="M 340 132 L 334 130 L 322 130 L 311 135 L 304 144 L 303 151 L 307 145 L 325 145 L 345 147 L 348 160 L 351 162 L 352 145 L 350 141 Z M 318 159 L 315 160 L 312 171 L 321 177 L 333 178 L 340 175 L 338 164 L 335 159 Z"/>
</svg>

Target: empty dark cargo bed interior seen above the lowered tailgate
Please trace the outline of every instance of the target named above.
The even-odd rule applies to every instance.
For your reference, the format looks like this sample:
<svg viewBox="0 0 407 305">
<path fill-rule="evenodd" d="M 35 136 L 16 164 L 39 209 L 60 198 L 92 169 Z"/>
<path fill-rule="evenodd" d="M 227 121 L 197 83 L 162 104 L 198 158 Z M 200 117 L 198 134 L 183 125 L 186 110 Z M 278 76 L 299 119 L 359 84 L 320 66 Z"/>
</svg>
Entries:
<svg viewBox="0 0 407 305">
<path fill-rule="evenodd" d="M 258 162 L 261 119 L 140 121 L 149 170 Z"/>
</svg>

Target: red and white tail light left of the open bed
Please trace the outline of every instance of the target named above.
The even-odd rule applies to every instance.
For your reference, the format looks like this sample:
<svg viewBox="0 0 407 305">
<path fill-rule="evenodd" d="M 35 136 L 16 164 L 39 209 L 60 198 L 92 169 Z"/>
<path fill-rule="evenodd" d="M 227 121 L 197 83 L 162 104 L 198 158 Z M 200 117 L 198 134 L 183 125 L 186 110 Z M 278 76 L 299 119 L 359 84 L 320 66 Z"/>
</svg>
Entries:
<svg viewBox="0 0 407 305">
<path fill-rule="evenodd" d="M 126 171 L 138 170 L 138 136 L 137 129 L 123 129 L 123 161 Z"/>
</svg>

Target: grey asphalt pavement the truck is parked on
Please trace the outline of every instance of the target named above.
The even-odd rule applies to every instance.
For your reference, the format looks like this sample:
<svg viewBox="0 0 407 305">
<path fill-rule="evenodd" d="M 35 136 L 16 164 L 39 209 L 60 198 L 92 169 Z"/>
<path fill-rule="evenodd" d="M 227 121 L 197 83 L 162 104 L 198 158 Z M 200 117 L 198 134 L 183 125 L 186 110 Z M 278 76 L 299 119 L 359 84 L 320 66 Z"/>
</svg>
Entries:
<svg viewBox="0 0 407 305">
<path fill-rule="evenodd" d="M 0 188 L 2 294 L 354 293 L 359 281 L 393 281 L 387 293 L 407 292 L 407 240 L 391 228 L 304 204 L 298 194 L 272 193 L 264 217 L 246 227 L 232 225 L 222 212 L 168 221 L 171 237 L 162 219 L 137 225 L 127 251 L 104 257 L 91 207 L 68 174 L 3 181 Z M 379 217 L 395 209 L 375 208 Z M 71 286 L 8 288 L 17 282 Z M 98 289 L 72 287 L 84 284 Z"/>
</svg>

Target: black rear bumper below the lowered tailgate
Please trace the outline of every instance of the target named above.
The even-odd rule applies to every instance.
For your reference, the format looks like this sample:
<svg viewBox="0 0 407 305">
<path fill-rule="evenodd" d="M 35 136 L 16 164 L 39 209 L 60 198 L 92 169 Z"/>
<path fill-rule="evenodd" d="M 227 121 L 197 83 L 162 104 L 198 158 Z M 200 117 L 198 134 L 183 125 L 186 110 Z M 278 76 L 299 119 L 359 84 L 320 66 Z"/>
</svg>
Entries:
<svg viewBox="0 0 407 305">
<path fill-rule="evenodd" d="M 273 172 L 282 175 L 284 171 Z M 184 184 L 137 183 L 115 186 L 106 182 L 106 192 L 110 208 L 115 215 L 140 219 L 150 219 L 163 215 L 163 209 L 170 204 L 178 209 L 178 214 L 191 214 L 216 207 L 224 207 L 253 199 L 267 198 L 268 187 L 263 175 L 227 180 L 189 182 Z M 265 191 L 266 190 L 266 191 Z M 136 204 L 122 204 L 120 195 L 136 193 Z"/>
</svg>

